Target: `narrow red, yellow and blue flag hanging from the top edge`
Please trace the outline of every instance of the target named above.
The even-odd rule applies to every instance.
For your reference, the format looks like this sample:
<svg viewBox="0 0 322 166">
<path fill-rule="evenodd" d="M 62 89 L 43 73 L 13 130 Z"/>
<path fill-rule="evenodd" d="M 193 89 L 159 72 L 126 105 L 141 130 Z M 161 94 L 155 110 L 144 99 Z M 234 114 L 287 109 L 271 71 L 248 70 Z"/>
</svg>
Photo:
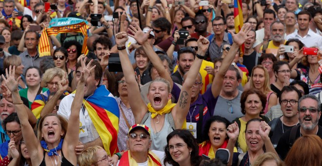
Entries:
<svg viewBox="0 0 322 166">
<path fill-rule="evenodd" d="M 242 4 L 241 0 L 234 0 L 234 22 L 235 22 L 235 31 L 238 33 L 241 30 L 242 25 L 244 24 L 242 18 Z M 241 45 L 241 57 L 245 52 L 244 44 Z"/>
</svg>

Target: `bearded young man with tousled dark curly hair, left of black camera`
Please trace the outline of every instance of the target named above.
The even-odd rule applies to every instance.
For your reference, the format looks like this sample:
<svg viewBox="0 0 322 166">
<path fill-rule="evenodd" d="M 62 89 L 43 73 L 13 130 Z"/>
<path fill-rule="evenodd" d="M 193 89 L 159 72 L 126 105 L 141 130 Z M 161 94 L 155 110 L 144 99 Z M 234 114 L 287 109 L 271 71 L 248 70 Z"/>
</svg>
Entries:
<svg viewBox="0 0 322 166">
<path fill-rule="evenodd" d="M 106 61 L 101 61 L 102 58 L 107 58 L 110 56 L 110 49 L 112 48 L 112 43 L 111 41 L 106 37 L 101 35 L 98 39 L 96 39 L 93 42 L 93 50 L 94 50 L 94 54 L 97 57 L 97 61 L 100 62 L 103 71 L 105 70 L 106 66 L 108 65 L 108 61 L 107 64 L 103 64 L 101 62 L 106 62 Z"/>
</svg>

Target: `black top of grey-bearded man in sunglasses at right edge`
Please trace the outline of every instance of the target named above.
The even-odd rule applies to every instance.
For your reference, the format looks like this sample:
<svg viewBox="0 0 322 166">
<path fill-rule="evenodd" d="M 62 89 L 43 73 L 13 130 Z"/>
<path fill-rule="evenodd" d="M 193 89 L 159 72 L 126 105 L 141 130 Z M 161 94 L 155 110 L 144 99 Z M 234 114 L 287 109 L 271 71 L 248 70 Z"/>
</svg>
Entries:
<svg viewBox="0 0 322 166">
<path fill-rule="evenodd" d="M 296 127 L 296 126 L 294 126 L 294 127 Z M 318 127 L 319 127 L 319 130 L 318 130 L 317 135 L 322 139 L 322 127 L 320 125 L 318 125 Z M 295 140 L 298 139 L 299 137 L 301 137 L 300 128 L 301 127 L 298 127 Z M 290 133 L 291 133 L 291 129 L 284 132 L 284 134 L 282 135 L 282 137 L 276 147 L 276 152 L 280 155 L 282 160 L 284 160 L 286 158 L 286 155 L 287 155 L 288 151 L 290 150 L 290 145 L 289 145 Z M 294 140 L 294 142 L 295 142 L 295 140 Z"/>
</svg>

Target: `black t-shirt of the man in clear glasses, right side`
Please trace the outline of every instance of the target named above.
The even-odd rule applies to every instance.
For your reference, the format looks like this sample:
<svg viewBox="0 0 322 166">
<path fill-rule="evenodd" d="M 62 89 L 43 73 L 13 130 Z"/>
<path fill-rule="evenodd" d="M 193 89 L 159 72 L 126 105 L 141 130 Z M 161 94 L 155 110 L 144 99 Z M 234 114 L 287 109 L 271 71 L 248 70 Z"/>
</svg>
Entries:
<svg viewBox="0 0 322 166">
<path fill-rule="evenodd" d="M 268 123 L 268 125 L 272 126 L 272 122 L 273 121 L 270 121 Z M 280 138 L 282 137 L 283 133 L 285 133 L 286 131 L 288 131 L 292 127 L 293 126 L 287 126 L 287 125 L 282 124 L 280 117 L 278 117 L 278 121 L 277 121 L 277 124 L 274 128 L 274 132 L 273 132 L 272 136 L 270 137 L 270 140 L 271 140 L 272 144 L 274 145 L 274 147 L 276 147 L 277 144 L 279 143 Z"/>
</svg>

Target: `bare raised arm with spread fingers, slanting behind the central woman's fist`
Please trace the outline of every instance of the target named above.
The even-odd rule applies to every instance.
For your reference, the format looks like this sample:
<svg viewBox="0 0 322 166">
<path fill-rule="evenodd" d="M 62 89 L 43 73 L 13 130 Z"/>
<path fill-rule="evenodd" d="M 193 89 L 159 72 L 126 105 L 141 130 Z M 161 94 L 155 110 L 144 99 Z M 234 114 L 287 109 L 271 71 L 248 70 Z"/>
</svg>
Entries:
<svg viewBox="0 0 322 166">
<path fill-rule="evenodd" d="M 165 80 L 170 82 L 170 89 L 172 89 L 173 81 L 171 79 L 169 72 L 167 71 L 167 69 L 164 68 L 164 66 L 161 62 L 161 59 L 154 52 L 151 44 L 147 41 L 152 29 L 150 29 L 147 33 L 143 33 L 138 24 L 136 24 L 136 28 L 133 27 L 132 25 L 130 25 L 129 30 L 135 35 L 134 36 L 129 35 L 129 36 L 134 38 L 139 44 L 141 44 L 143 46 L 144 52 L 148 56 L 150 62 L 153 64 L 154 68 L 156 68 L 156 70 L 160 74 L 160 77 L 164 78 Z"/>
</svg>

